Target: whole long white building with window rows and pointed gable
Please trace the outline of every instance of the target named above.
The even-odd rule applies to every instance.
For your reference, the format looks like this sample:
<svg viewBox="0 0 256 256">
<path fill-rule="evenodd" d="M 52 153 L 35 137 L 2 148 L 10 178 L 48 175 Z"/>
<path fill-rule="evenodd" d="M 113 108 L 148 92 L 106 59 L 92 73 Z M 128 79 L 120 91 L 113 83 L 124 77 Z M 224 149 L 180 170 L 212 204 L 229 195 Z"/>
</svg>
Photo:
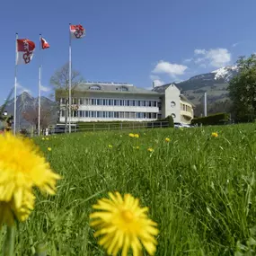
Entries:
<svg viewBox="0 0 256 256">
<path fill-rule="evenodd" d="M 68 95 L 57 90 L 56 98 L 59 121 L 65 122 Z M 146 90 L 126 83 L 86 82 L 72 90 L 71 122 L 151 121 L 169 115 L 175 122 L 190 123 L 193 118 L 192 104 L 174 84 Z"/>
</svg>

